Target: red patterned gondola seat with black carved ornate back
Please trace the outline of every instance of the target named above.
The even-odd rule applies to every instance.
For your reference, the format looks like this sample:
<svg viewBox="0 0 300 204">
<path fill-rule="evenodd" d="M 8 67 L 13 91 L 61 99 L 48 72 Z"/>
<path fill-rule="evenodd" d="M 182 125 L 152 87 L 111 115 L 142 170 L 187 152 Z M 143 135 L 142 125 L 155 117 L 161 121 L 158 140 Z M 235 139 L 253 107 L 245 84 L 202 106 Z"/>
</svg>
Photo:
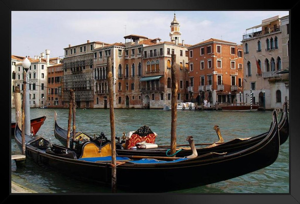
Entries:
<svg viewBox="0 0 300 204">
<path fill-rule="evenodd" d="M 143 126 L 137 131 L 129 132 L 126 136 L 125 149 L 131 149 L 137 143 L 145 141 L 146 143 L 154 143 L 157 134 L 152 132 L 148 126 Z"/>
</svg>

